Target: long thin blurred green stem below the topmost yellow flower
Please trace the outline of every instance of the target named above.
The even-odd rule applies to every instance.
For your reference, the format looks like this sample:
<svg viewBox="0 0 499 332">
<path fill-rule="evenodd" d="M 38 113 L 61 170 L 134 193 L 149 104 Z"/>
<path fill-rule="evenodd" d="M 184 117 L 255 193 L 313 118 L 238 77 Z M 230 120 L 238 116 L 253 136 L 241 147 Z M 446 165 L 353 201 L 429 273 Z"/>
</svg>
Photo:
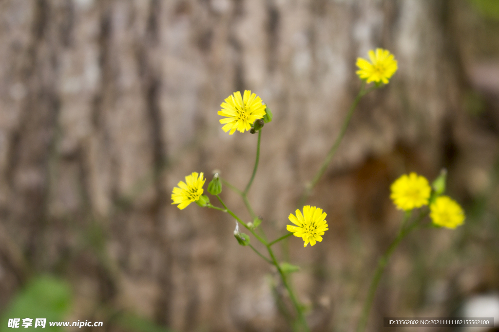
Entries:
<svg viewBox="0 0 499 332">
<path fill-rule="evenodd" d="M 352 118 L 353 112 L 355 111 L 355 108 L 359 104 L 360 100 L 366 94 L 368 94 L 371 91 L 378 88 L 377 86 L 373 86 L 367 90 L 364 90 L 364 87 L 365 87 L 365 82 L 363 81 L 362 85 L 360 86 L 360 91 L 357 94 L 357 97 L 355 97 L 352 105 L 350 106 L 350 109 L 348 110 L 348 113 L 346 114 L 345 120 L 343 121 L 343 124 L 341 125 L 341 130 L 340 130 L 338 136 L 336 137 L 336 140 L 334 141 L 333 146 L 331 146 L 331 149 L 329 150 L 329 152 L 326 155 L 326 159 L 324 159 L 319 170 L 317 171 L 317 173 L 315 173 L 312 181 L 309 184 L 307 184 L 305 191 L 301 195 L 300 200 L 298 201 L 298 208 L 302 207 L 303 204 L 305 204 L 308 196 L 310 196 L 310 194 L 312 192 L 312 189 L 315 187 L 315 185 L 317 184 L 319 179 L 322 177 L 322 175 L 326 171 L 327 166 L 331 162 L 331 159 L 333 159 L 333 156 L 336 153 L 336 150 L 338 149 L 338 147 L 341 143 L 341 140 L 343 139 L 343 136 L 345 136 L 345 132 L 346 132 L 346 129 L 348 127 L 348 123 L 350 123 L 350 119 Z"/>
</svg>

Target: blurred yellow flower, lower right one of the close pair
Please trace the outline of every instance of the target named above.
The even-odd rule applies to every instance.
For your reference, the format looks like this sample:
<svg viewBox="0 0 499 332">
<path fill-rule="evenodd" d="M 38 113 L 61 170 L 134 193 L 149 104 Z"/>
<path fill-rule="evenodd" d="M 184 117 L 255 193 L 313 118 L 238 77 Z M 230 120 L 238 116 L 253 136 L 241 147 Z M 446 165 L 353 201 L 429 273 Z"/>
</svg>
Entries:
<svg viewBox="0 0 499 332">
<path fill-rule="evenodd" d="M 440 196 L 430 205 L 430 218 L 436 225 L 456 228 L 465 221 L 466 216 L 456 201 L 448 196 Z"/>
</svg>

